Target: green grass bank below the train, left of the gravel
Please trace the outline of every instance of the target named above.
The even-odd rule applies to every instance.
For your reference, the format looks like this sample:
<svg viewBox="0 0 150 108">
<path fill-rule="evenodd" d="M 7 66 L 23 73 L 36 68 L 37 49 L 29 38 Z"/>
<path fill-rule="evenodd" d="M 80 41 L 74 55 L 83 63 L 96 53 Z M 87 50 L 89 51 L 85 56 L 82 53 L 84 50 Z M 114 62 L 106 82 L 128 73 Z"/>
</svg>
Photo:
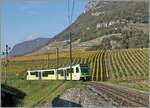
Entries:
<svg viewBox="0 0 150 108">
<path fill-rule="evenodd" d="M 16 76 L 8 77 L 7 84 L 26 94 L 18 104 L 22 107 L 43 106 L 68 88 L 82 87 L 82 81 L 27 81 Z"/>
</svg>

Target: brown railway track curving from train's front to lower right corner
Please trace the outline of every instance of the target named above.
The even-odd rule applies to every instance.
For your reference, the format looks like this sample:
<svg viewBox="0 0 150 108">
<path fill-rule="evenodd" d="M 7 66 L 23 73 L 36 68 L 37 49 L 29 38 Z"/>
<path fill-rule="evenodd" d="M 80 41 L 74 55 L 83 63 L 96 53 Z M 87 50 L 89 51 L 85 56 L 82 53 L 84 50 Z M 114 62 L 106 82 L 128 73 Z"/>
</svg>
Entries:
<svg viewBox="0 0 150 108">
<path fill-rule="evenodd" d="M 86 84 L 94 87 L 97 91 L 106 93 L 115 100 L 123 102 L 125 106 L 148 107 L 149 105 L 149 96 L 146 93 L 123 89 L 103 83 L 87 82 Z"/>
</svg>

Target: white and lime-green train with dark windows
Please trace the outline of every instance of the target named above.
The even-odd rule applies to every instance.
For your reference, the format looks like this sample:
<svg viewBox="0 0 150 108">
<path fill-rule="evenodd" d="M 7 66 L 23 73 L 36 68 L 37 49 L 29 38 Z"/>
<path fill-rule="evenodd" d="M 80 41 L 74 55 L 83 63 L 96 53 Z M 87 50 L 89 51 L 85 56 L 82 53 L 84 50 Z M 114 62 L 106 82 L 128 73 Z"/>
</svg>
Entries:
<svg viewBox="0 0 150 108">
<path fill-rule="evenodd" d="M 27 70 L 26 80 L 90 80 L 87 64 L 75 64 L 71 69 L 67 66 Z"/>
</svg>

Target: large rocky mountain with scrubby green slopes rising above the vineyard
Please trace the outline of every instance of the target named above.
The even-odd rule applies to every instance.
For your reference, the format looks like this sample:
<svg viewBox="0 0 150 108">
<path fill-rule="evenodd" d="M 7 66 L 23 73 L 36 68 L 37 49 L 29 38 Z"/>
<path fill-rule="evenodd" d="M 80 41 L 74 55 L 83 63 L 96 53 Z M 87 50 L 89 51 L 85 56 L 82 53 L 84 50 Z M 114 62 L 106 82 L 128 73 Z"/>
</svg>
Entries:
<svg viewBox="0 0 150 108">
<path fill-rule="evenodd" d="M 69 28 L 72 31 L 73 49 L 147 48 L 148 21 L 147 0 L 89 0 L 85 11 L 73 24 L 36 52 L 46 52 L 49 48 L 60 46 L 62 50 L 69 50 Z"/>
</svg>

